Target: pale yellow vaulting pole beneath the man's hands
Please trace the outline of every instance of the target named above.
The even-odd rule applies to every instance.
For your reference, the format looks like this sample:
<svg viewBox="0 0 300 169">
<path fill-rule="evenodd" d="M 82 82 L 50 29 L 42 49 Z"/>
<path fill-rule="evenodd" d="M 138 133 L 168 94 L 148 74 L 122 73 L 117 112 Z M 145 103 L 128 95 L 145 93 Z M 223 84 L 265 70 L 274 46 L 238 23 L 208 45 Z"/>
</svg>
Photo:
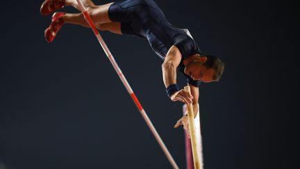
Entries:
<svg viewBox="0 0 300 169">
<path fill-rule="evenodd" d="M 185 90 L 188 90 L 190 93 L 190 86 L 185 86 Z M 196 135 L 196 129 L 194 124 L 194 111 L 192 108 L 192 104 L 188 105 L 188 122 L 190 125 L 190 140 L 192 143 L 192 154 L 194 159 L 194 168 L 195 169 L 201 169 L 201 163 L 200 163 L 200 156 L 199 152 L 197 150 L 197 135 Z"/>
</svg>

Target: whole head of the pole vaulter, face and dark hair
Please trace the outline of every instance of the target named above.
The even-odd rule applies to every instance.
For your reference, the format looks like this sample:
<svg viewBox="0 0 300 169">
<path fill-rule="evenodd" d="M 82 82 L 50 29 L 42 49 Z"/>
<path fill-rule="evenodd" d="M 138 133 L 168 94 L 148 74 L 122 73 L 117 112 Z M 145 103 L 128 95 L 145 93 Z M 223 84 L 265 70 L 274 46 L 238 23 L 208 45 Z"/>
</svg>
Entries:
<svg viewBox="0 0 300 169">
<path fill-rule="evenodd" d="M 224 71 L 224 63 L 217 56 L 201 55 L 195 57 L 185 67 L 185 74 L 203 82 L 219 81 Z"/>
</svg>

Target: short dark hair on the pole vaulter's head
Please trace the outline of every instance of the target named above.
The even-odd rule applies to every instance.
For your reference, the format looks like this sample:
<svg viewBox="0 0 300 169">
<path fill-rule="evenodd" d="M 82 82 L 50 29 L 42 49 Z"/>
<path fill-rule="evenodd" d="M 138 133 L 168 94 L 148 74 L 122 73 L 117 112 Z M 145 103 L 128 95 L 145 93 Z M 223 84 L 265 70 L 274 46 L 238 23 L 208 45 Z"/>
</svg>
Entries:
<svg viewBox="0 0 300 169">
<path fill-rule="evenodd" d="M 223 71 L 224 71 L 224 63 L 217 57 L 213 55 L 201 55 L 206 56 L 207 60 L 203 65 L 205 65 L 208 68 L 213 68 L 215 70 L 215 74 L 213 76 L 214 81 L 219 81 L 219 79 L 222 77 Z"/>
</svg>

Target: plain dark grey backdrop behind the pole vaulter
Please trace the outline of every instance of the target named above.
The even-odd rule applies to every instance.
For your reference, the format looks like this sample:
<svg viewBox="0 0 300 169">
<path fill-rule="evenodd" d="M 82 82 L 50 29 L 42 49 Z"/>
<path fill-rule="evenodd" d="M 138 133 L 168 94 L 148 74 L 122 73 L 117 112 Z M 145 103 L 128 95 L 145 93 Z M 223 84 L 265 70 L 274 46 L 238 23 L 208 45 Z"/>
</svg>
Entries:
<svg viewBox="0 0 300 169">
<path fill-rule="evenodd" d="M 169 22 L 188 28 L 204 53 L 226 65 L 219 82 L 200 88 L 205 168 L 296 168 L 296 4 L 156 2 Z M 172 168 L 92 31 L 65 25 L 48 44 L 51 17 L 40 15 L 41 4 L 1 1 L 0 168 Z M 101 35 L 185 168 L 183 129 L 173 128 L 183 104 L 165 94 L 163 61 L 145 40 Z M 178 84 L 185 86 L 181 74 Z"/>
</svg>

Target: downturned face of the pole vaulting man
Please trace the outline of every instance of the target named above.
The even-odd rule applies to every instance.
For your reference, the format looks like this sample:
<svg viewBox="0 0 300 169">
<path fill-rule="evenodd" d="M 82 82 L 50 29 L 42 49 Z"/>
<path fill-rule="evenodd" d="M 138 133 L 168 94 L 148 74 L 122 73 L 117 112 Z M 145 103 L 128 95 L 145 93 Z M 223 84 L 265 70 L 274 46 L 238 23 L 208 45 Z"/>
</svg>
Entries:
<svg viewBox="0 0 300 169">
<path fill-rule="evenodd" d="M 193 62 L 185 67 L 185 74 L 188 74 L 194 81 L 202 81 L 205 83 L 213 81 L 215 70 L 207 68 L 202 63 Z"/>
</svg>

